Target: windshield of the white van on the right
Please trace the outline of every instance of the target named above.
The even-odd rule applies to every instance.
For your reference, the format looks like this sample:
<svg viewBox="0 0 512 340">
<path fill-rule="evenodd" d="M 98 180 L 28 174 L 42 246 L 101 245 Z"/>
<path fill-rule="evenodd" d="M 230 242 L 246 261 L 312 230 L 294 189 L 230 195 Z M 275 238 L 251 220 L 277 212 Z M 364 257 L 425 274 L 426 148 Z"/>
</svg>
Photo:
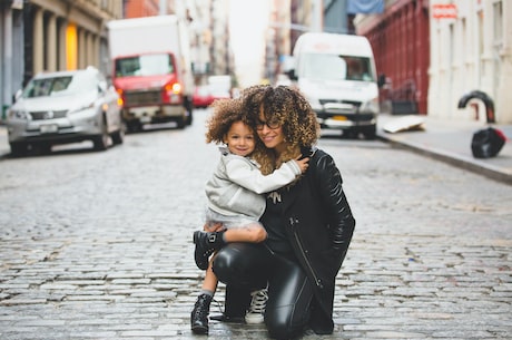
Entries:
<svg viewBox="0 0 512 340">
<path fill-rule="evenodd" d="M 306 78 L 318 80 L 375 81 L 367 57 L 305 54 L 298 71 Z"/>
</svg>

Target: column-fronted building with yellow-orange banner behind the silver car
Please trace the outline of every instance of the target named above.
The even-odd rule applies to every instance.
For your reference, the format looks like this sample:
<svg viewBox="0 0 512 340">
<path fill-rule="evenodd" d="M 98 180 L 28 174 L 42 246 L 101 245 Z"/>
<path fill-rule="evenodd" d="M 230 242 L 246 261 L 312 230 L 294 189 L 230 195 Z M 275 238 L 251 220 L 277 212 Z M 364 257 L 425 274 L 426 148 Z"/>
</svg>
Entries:
<svg viewBox="0 0 512 340">
<path fill-rule="evenodd" d="M 122 16 L 121 0 L 0 2 L 2 118 L 17 90 L 40 71 L 108 65 L 106 22 Z"/>
</svg>

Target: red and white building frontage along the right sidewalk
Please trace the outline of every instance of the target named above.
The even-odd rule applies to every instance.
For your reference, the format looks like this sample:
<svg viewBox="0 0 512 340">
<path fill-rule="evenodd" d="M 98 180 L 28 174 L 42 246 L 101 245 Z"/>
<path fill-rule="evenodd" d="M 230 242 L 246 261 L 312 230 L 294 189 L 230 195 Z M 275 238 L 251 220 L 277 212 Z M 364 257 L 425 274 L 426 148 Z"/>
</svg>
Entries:
<svg viewBox="0 0 512 340">
<path fill-rule="evenodd" d="M 386 0 L 382 14 L 357 16 L 394 114 L 511 123 L 512 3 L 504 0 Z M 485 100 L 469 94 L 483 93 Z M 490 98 L 490 100 L 489 100 Z"/>
</svg>

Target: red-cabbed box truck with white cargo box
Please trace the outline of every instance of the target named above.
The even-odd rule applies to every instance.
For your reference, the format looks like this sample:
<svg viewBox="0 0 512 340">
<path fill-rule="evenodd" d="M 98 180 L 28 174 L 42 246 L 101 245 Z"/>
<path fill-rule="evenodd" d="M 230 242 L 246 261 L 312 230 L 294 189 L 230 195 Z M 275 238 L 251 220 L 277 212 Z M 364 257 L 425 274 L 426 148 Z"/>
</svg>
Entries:
<svg viewBox="0 0 512 340">
<path fill-rule="evenodd" d="M 194 78 L 188 31 L 176 16 L 107 23 L 111 80 L 128 132 L 146 124 L 193 122 Z"/>
</svg>

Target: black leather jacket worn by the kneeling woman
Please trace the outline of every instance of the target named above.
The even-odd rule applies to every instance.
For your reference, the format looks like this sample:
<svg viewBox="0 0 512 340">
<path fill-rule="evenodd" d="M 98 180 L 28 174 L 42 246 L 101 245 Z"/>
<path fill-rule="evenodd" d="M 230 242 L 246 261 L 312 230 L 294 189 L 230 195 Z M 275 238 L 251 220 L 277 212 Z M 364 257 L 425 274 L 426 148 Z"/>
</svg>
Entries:
<svg viewBox="0 0 512 340">
<path fill-rule="evenodd" d="M 303 150 L 311 157 L 304 176 L 283 193 L 283 223 L 304 271 L 315 286 L 311 327 L 332 333 L 335 278 L 345 259 L 355 220 L 331 155 Z"/>
</svg>

